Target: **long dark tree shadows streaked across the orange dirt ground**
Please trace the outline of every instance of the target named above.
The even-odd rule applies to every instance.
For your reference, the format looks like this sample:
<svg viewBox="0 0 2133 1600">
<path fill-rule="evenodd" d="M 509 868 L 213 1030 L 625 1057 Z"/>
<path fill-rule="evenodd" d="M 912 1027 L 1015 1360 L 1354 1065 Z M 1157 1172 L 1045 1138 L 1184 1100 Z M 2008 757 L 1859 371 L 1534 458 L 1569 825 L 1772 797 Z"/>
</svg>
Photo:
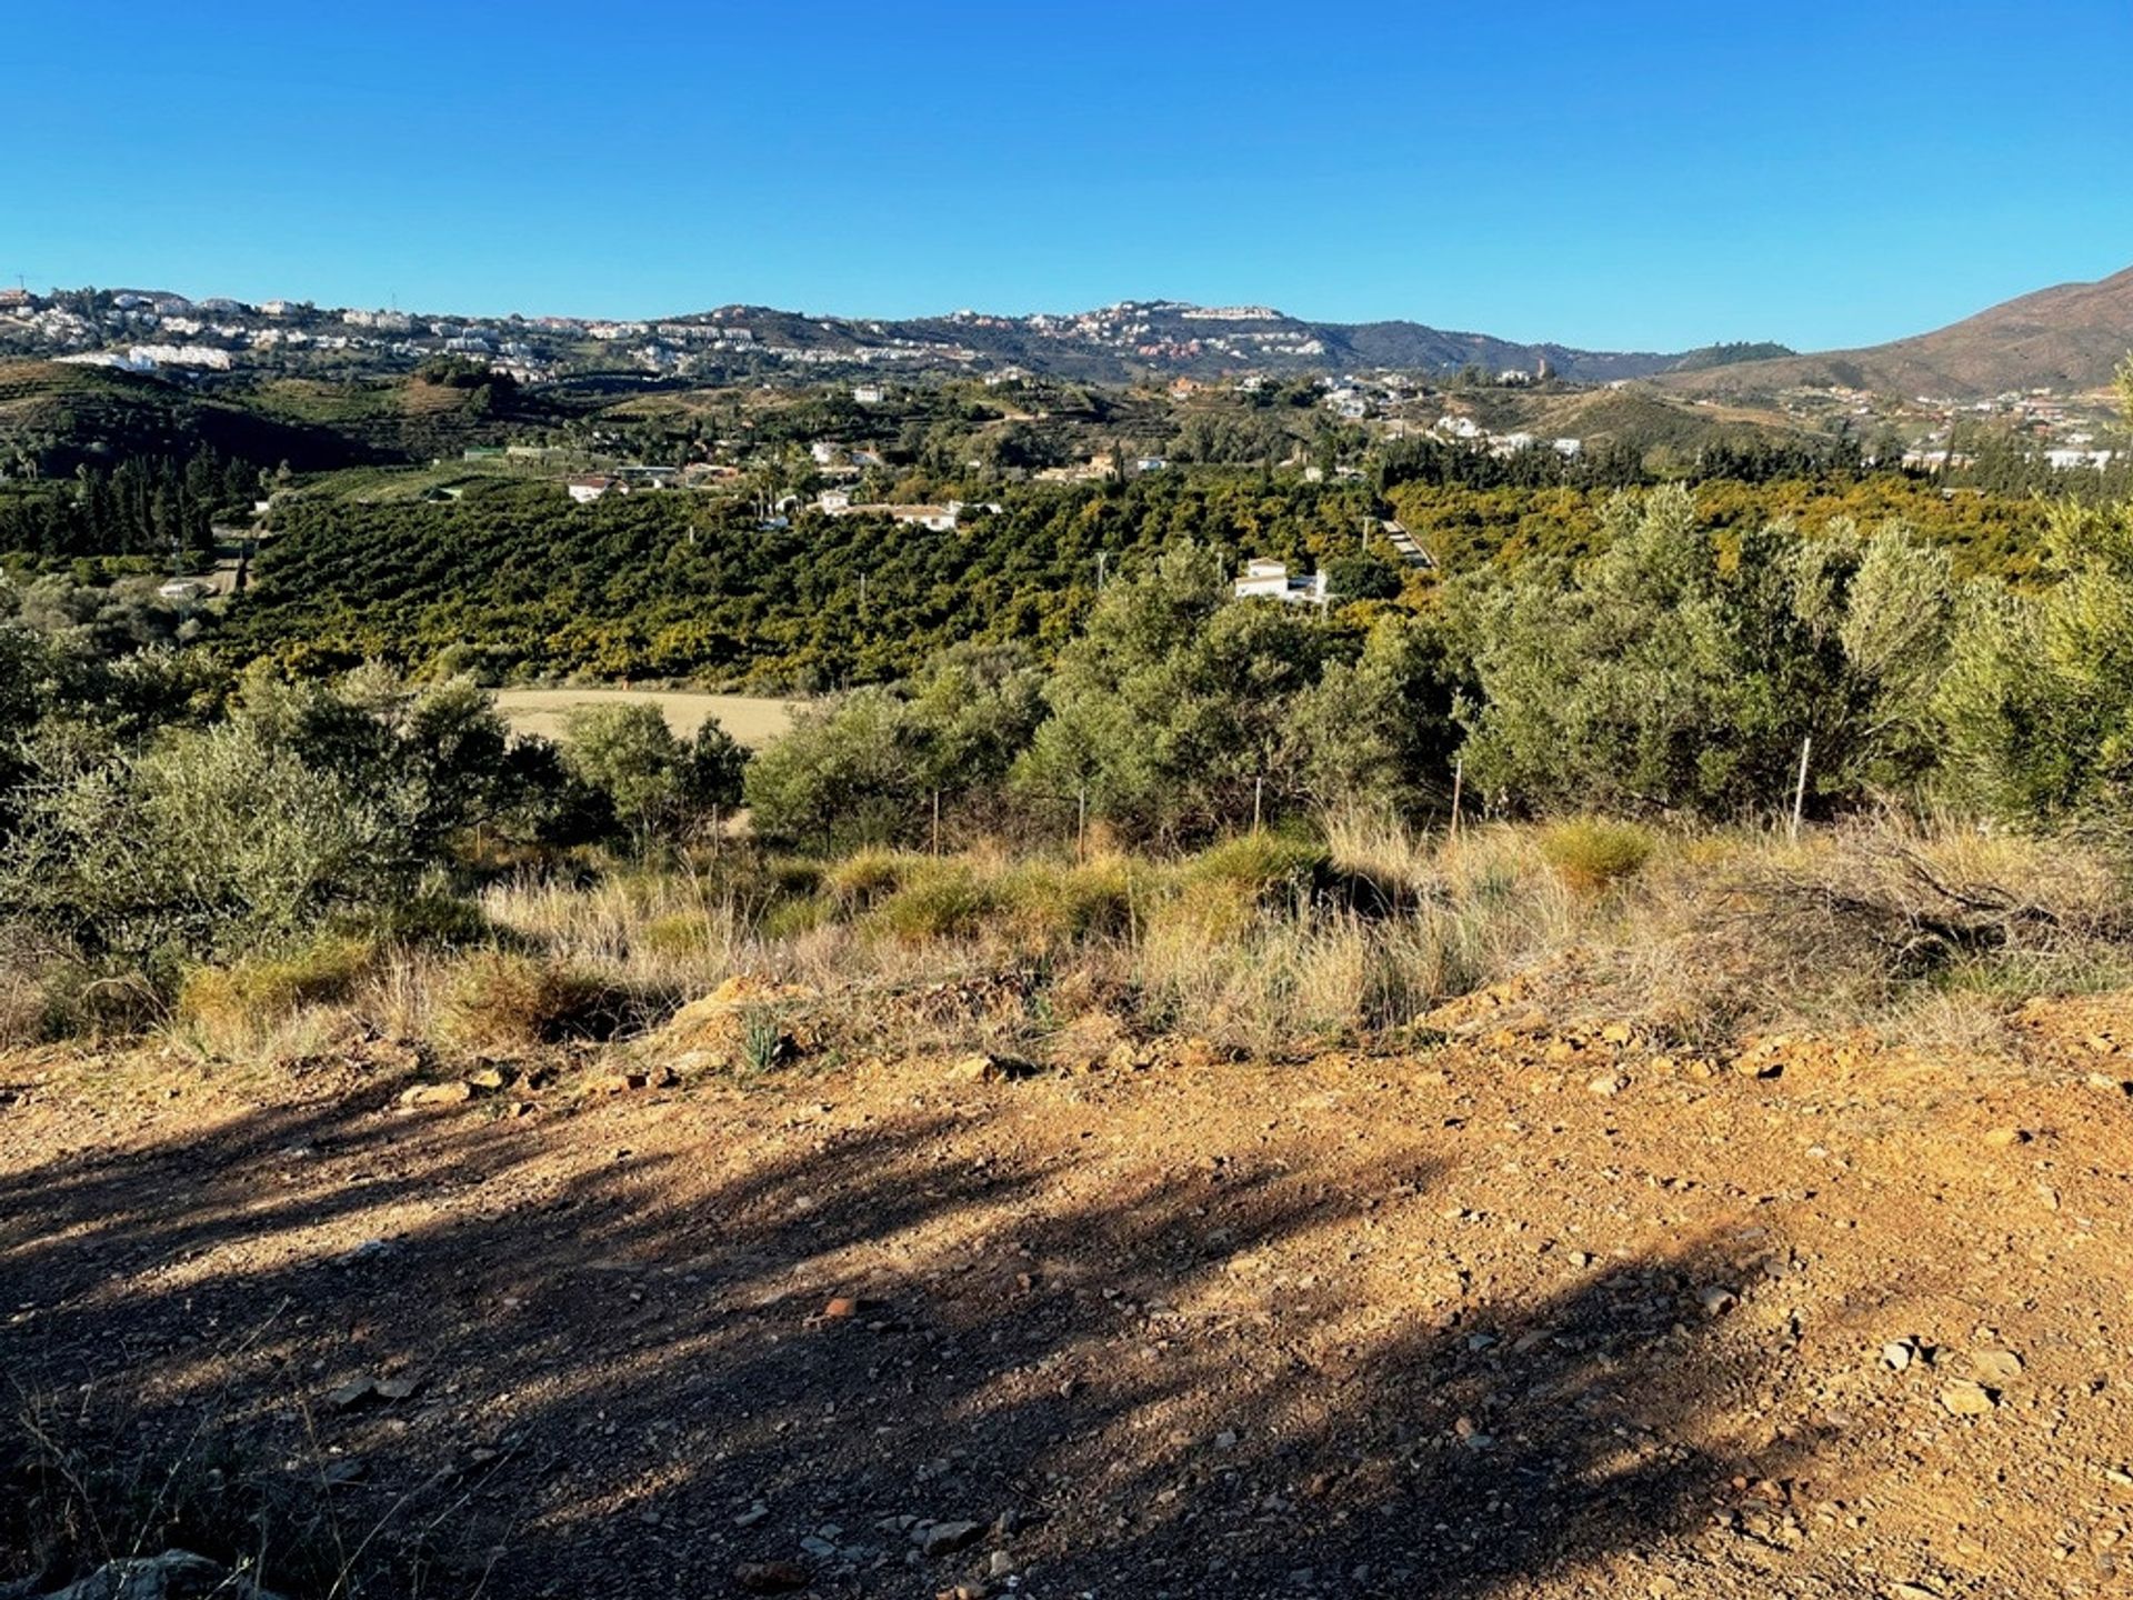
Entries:
<svg viewBox="0 0 2133 1600">
<path fill-rule="evenodd" d="M 1374 1295 L 1344 1248 L 1436 1171 L 1069 1199 L 1062 1158 L 966 1158 L 1013 1094 L 725 1171 L 557 1175 L 540 1129 L 384 1090 L 55 1158 L 0 1180 L 0 1363 L 92 1453 L 211 1434 L 314 1485 L 369 1596 L 725 1594 L 768 1562 L 930 1596 L 992 1551 L 1026 1596 L 1510 1596 L 1807 1449 L 1743 1438 L 1762 1353 L 1700 1303 L 1738 1286 L 1717 1246 Z M 333 1404 L 380 1376 L 416 1389 Z M 926 1555 L 928 1521 L 985 1527 Z M 181 1532 L 211 1534 L 107 1542 Z"/>
</svg>

